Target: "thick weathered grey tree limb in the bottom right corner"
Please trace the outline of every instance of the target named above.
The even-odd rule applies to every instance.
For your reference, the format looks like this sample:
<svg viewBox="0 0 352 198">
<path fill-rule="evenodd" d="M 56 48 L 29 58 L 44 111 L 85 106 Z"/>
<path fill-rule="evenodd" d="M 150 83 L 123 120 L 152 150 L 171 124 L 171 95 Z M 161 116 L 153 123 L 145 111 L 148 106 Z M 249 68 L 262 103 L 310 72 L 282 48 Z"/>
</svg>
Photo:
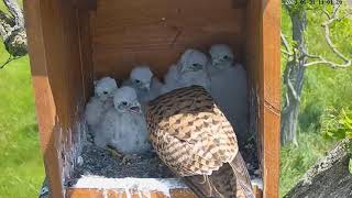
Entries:
<svg viewBox="0 0 352 198">
<path fill-rule="evenodd" d="M 351 141 L 344 140 L 317 162 L 285 198 L 352 197 L 352 174 L 349 172 Z"/>
</svg>

